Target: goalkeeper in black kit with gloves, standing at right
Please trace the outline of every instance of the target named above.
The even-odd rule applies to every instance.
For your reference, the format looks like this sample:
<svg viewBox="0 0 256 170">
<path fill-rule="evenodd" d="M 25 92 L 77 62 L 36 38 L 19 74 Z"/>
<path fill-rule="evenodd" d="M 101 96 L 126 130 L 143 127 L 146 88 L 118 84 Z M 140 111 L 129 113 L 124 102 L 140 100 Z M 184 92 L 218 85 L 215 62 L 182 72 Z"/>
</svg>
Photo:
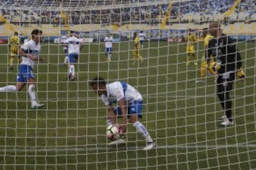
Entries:
<svg viewBox="0 0 256 170">
<path fill-rule="evenodd" d="M 234 125 L 230 91 L 233 90 L 235 74 L 240 79 L 245 78 L 245 73 L 242 71 L 241 55 L 235 40 L 222 33 L 220 23 L 210 23 L 209 29 L 214 38 L 209 41 L 206 59 L 208 64 L 210 64 L 210 56 L 213 56 L 215 60 L 215 69 L 218 74 L 217 93 L 225 111 L 225 115 L 222 117 L 223 122 L 220 125 Z"/>
</svg>

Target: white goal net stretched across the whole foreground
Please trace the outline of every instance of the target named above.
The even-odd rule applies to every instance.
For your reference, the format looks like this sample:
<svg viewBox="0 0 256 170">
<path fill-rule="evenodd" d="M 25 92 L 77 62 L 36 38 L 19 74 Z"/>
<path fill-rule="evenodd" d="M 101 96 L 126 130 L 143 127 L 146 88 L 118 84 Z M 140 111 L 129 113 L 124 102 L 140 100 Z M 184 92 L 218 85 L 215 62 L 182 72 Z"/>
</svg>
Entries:
<svg viewBox="0 0 256 170">
<path fill-rule="evenodd" d="M 256 169 L 253 0 L 5 0 L 0 9 L 0 86 L 16 84 L 20 65 L 15 56 L 11 69 L 8 44 L 14 32 L 23 45 L 33 29 L 42 30 L 40 56 L 46 59 L 34 67 L 36 96 L 46 106 L 31 109 L 27 86 L 0 93 L 0 169 Z M 201 34 L 211 21 L 234 38 L 245 72 L 230 91 L 234 125 L 228 127 L 218 120 L 224 111 L 215 77 L 206 71 L 197 82 Z M 190 64 L 189 28 L 196 36 Z M 60 43 L 71 30 L 82 41 L 74 81 L 67 79 Z M 110 33 L 111 62 L 104 47 Z M 144 34 L 143 62 L 132 60 L 134 33 Z M 107 108 L 90 89 L 94 77 L 127 82 L 142 94 L 139 121 L 156 147 L 144 151 L 144 137 L 129 122 L 127 143 L 107 145 Z"/>
</svg>

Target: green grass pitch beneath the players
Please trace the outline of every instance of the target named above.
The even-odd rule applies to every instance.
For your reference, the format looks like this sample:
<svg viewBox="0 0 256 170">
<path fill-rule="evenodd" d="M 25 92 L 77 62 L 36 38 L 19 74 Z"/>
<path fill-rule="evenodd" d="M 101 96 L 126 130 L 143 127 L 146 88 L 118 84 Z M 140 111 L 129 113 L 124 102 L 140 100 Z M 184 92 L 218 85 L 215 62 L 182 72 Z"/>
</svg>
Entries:
<svg viewBox="0 0 256 170">
<path fill-rule="evenodd" d="M 238 47 L 245 81 L 235 81 L 235 125 L 220 127 L 223 115 L 214 77 L 196 84 L 199 68 L 186 65 L 185 46 L 146 42 L 143 64 L 132 65 L 132 42 L 114 44 L 105 62 L 102 44 L 84 45 L 75 72 L 67 81 L 63 51 L 42 43 L 46 62 L 36 65 L 38 101 L 33 111 L 26 92 L 0 94 L 0 169 L 256 169 L 255 42 Z M 197 47 L 198 58 L 202 45 Z M 15 84 L 17 67 L 9 71 L 7 46 L 0 46 L 0 86 Z M 122 80 L 144 97 L 142 123 L 158 147 L 148 152 L 143 138 L 128 125 L 127 145 L 107 147 L 106 109 L 88 80 L 100 75 Z"/>
</svg>

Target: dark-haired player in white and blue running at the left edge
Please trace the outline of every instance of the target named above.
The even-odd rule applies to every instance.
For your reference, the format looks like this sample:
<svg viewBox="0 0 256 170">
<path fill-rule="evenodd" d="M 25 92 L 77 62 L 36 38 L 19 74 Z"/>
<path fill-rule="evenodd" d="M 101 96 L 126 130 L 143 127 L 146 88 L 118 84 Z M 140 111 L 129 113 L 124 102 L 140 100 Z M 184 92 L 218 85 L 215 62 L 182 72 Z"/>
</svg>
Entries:
<svg viewBox="0 0 256 170">
<path fill-rule="evenodd" d="M 42 103 L 36 101 L 35 91 L 35 77 L 33 75 L 34 62 L 43 62 L 45 59 L 39 57 L 38 54 L 41 50 L 40 37 L 42 35 L 41 30 L 32 30 L 32 39 L 21 45 L 18 50 L 18 55 L 21 55 L 22 62 L 18 69 L 16 86 L 9 85 L 0 88 L 0 92 L 15 92 L 21 91 L 26 84 L 28 84 L 28 94 L 31 98 L 31 108 L 41 108 L 44 106 Z"/>
</svg>

